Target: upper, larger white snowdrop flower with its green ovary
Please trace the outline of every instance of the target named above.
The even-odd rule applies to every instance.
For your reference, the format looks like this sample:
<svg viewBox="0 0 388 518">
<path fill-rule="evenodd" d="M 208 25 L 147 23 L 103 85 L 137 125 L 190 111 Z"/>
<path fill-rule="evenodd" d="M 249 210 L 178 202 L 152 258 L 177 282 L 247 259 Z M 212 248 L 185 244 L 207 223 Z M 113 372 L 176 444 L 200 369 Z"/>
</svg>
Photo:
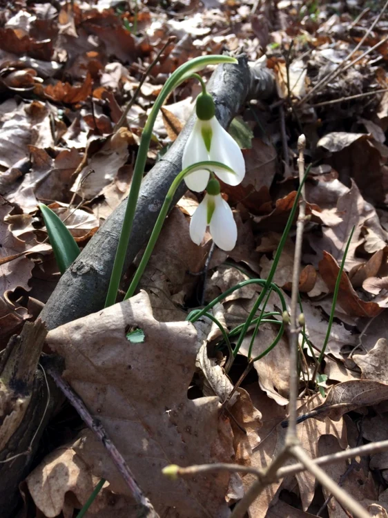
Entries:
<svg viewBox="0 0 388 518">
<path fill-rule="evenodd" d="M 197 120 L 188 137 L 182 157 L 182 169 L 197 162 L 220 162 L 233 169 L 234 174 L 222 169 L 213 169 L 222 182 L 238 185 L 245 175 L 245 162 L 237 142 L 222 128 L 215 117 L 213 97 L 206 93 L 198 95 L 195 105 Z M 195 171 L 184 179 L 191 191 L 204 191 L 210 173 L 205 169 Z"/>
</svg>

